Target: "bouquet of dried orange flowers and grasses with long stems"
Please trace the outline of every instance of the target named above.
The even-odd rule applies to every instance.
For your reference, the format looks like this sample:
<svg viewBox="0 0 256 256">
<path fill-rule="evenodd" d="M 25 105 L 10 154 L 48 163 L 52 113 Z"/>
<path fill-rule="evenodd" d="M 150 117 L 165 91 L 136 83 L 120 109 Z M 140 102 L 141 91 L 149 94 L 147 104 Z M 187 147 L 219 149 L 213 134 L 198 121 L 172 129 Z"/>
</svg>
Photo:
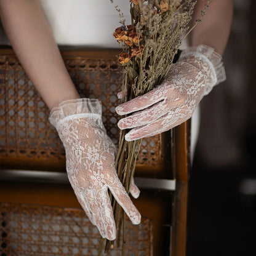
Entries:
<svg viewBox="0 0 256 256">
<path fill-rule="evenodd" d="M 127 92 L 122 95 L 122 102 L 149 92 L 164 80 L 183 39 L 201 22 L 210 2 L 207 1 L 201 17 L 191 28 L 189 24 L 196 4 L 194 0 L 130 0 L 131 25 L 125 24 L 124 15 L 118 6 L 115 7 L 122 26 L 116 28 L 113 36 L 122 46 L 123 52 L 119 54 L 118 62 L 123 74 L 122 91 Z M 115 166 L 118 177 L 129 192 L 142 139 L 127 142 L 124 138 L 127 132 L 120 132 Z M 110 198 L 118 234 L 116 241 L 118 246 L 122 243 L 124 255 L 124 212 L 111 194 Z M 99 256 L 104 244 L 105 253 L 114 247 L 114 241 L 102 239 Z"/>
</svg>

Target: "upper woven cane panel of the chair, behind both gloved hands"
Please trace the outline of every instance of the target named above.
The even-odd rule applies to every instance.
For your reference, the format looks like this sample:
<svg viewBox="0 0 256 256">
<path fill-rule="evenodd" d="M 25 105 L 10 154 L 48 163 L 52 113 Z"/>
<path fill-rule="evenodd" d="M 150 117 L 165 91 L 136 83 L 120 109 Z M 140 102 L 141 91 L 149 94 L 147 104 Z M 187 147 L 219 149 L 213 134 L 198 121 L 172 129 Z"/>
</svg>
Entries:
<svg viewBox="0 0 256 256">
<path fill-rule="evenodd" d="M 115 106 L 122 75 L 114 60 L 64 57 L 66 67 L 81 97 L 99 98 L 108 135 L 118 143 Z M 49 110 L 17 58 L 0 56 L 0 159 L 65 159 L 57 132 L 48 121 Z M 138 165 L 159 166 L 161 135 L 146 138 Z"/>
</svg>

